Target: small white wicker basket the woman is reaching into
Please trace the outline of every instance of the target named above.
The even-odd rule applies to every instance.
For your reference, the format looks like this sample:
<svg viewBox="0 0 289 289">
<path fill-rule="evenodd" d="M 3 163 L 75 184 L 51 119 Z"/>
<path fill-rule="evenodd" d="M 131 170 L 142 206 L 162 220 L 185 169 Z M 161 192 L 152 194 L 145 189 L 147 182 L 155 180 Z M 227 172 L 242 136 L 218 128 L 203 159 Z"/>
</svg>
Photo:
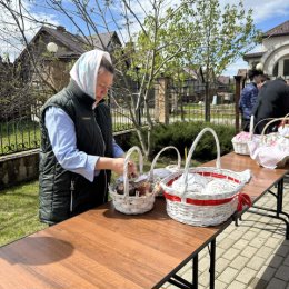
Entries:
<svg viewBox="0 0 289 289">
<path fill-rule="evenodd" d="M 117 185 L 109 187 L 109 192 L 116 210 L 127 215 L 139 215 L 147 212 L 153 208 L 155 203 L 153 192 L 146 193 L 144 196 L 129 196 L 128 163 L 133 151 L 137 151 L 139 155 L 139 173 L 142 175 L 143 158 L 140 148 L 134 146 L 128 150 L 124 159 L 123 195 L 117 192 Z"/>
</svg>

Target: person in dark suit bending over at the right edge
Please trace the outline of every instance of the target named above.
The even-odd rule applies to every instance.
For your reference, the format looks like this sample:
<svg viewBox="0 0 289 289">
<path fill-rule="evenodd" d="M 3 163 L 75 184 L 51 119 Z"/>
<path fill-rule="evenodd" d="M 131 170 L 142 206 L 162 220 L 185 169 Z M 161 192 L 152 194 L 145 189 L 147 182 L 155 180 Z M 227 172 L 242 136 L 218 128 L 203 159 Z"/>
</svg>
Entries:
<svg viewBox="0 0 289 289">
<path fill-rule="evenodd" d="M 289 86 L 281 78 L 266 81 L 259 91 L 256 106 L 252 110 L 255 124 L 263 120 L 256 127 L 255 133 L 260 134 L 270 119 L 282 118 L 287 113 L 289 113 Z M 272 123 L 266 133 L 275 130 L 276 123 Z"/>
</svg>

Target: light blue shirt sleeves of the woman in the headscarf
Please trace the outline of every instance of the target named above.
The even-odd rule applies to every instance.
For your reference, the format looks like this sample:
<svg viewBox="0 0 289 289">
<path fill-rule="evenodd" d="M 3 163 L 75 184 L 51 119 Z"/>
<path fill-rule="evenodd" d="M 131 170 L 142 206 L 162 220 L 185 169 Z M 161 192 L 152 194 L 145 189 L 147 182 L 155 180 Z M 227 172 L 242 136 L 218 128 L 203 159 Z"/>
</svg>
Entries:
<svg viewBox="0 0 289 289">
<path fill-rule="evenodd" d="M 46 111 L 46 127 L 58 162 L 66 170 L 79 173 L 89 181 L 93 181 L 96 165 L 100 156 L 88 155 L 77 148 L 74 123 L 60 108 L 50 107 Z M 113 158 L 121 157 L 124 151 L 113 139 Z"/>
</svg>

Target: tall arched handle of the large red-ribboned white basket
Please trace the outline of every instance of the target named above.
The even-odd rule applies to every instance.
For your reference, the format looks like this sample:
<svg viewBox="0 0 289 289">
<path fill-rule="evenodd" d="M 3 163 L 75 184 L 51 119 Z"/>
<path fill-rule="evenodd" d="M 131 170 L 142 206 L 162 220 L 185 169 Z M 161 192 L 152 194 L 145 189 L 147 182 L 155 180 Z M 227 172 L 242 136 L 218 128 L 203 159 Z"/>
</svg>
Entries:
<svg viewBox="0 0 289 289">
<path fill-rule="evenodd" d="M 188 158 L 186 160 L 186 165 L 185 165 L 185 186 L 183 186 L 183 191 L 181 193 L 181 196 L 183 197 L 185 196 L 185 192 L 187 191 L 187 187 L 188 187 L 188 173 L 189 173 L 189 167 L 190 167 L 190 161 L 191 161 L 191 156 L 192 156 L 192 152 L 195 151 L 200 138 L 203 136 L 203 133 L 206 133 L 207 131 L 211 132 L 213 138 L 215 138 L 215 141 L 216 141 L 216 146 L 217 146 L 217 160 L 216 160 L 216 168 L 217 169 L 220 169 L 221 168 L 221 152 L 220 152 L 220 143 L 219 143 L 219 139 L 218 139 L 218 136 L 216 133 L 216 131 L 211 128 L 205 128 L 202 129 L 199 134 L 197 136 L 197 138 L 193 140 L 192 144 L 191 144 L 191 148 L 189 150 L 189 153 L 188 153 Z"/>
</svg>

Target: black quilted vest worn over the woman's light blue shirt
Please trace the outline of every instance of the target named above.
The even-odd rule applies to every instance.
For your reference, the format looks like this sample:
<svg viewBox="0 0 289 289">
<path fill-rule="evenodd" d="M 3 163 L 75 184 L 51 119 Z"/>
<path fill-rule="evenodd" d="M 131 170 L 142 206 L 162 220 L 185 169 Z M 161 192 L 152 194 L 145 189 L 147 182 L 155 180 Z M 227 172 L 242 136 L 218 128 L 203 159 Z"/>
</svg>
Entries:
<svg viewBox="0 0 289 289">
<path fill-rule="evenodd" d="M 44 126 L 44 111 L 54 106 L 63 109 L 76 127 L 77 148 L 88 155 L 112 157 L 112 124 L 109 107 L 101 102 L 92 110 L 93 99 L 71 80 L 41 109 L 41 150 L 39 165 L 40 220 L 56 223 L 102 205 L 108 198 L 110 171 L 101 170 L 93 182 L 63 169 L 52 151 Z"/>
</svg>

